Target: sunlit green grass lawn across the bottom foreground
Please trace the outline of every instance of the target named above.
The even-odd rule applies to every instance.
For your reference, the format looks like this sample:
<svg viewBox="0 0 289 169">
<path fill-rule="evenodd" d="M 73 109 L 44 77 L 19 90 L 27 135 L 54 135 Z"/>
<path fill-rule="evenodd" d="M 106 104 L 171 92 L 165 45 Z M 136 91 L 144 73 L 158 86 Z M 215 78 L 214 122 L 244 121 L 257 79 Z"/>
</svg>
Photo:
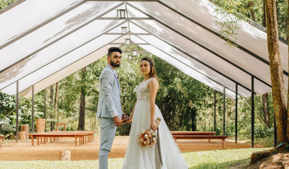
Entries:
<svg viewBox="0 0 289 169">
<path fill-rule="evenodd" d="M 266 148 L 265 150 L 270 149 Z M 189 168 L 241 168 L 246 166 L 254 151 L 263 148 L 196 151 L 183 153 Z M 123 158 L 109 159 L 109 168 L 121 168 Z M 0 161 L 0 168 L 98 168 L 98 160 L 81 161 Z"/>
</svg>

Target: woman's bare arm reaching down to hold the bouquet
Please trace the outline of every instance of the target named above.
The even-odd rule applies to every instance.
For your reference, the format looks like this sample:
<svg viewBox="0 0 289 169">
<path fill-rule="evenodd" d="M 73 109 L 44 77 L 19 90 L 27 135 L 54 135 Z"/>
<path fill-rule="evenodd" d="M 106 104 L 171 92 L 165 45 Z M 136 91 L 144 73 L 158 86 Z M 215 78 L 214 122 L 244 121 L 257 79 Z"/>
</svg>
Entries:
<svg viewBox="0 0 289 169">
<path fill-rule="evenodd" d="M 157 124 L 155 121 L 155 102 L 156 102 L 156 92 L 157 92 L 157 81 L 155 79 L 151 80 L 148 83 L 148 88 L 149 88 L 149 95 L 150 95 L 150 99 L 149 99 L 149 106 L 150 106 L 150 112 L 151 112 L 151 128 L 153 129 L 153 131 L 156 131 L 157 129 Z"/>
</svg>

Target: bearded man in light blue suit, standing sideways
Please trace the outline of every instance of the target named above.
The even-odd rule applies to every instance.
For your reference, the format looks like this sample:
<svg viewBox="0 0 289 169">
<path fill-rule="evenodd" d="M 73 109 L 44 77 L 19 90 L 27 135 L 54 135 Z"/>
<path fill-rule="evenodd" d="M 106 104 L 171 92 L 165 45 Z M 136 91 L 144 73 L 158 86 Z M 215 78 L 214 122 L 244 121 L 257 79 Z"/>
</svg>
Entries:
<svg viewBox="0 0 289 169">
<path fill-rule="evenodd" d="M 121 65 L 121 49 L 109 48 L 107 65 L 99 77 L 99 99 L 97 117 L 100 122 L 100 148 L 98 161 L 100 169 L 107 169 L 107 156 L 111 150 L 117 126 L 128 116 L 121 109 L 121 88 L 115 71 Z"/>
</svg>

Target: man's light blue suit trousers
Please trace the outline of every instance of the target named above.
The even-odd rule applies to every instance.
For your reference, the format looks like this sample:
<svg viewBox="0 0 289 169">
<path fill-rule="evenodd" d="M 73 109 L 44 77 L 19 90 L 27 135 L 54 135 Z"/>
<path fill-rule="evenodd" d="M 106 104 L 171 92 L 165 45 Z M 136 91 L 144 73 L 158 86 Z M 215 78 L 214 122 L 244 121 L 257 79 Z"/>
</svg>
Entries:
<svg viewBox="0 0 289 169">
<path fill-rule="evenodd" d="M 99 169 L 107 169 L 107 156 L 111 150 L 115 136 L 116 126 L 112 118 L 99 117 L 100 123 L 100 148 L 98 153 Z"/>
</svg>

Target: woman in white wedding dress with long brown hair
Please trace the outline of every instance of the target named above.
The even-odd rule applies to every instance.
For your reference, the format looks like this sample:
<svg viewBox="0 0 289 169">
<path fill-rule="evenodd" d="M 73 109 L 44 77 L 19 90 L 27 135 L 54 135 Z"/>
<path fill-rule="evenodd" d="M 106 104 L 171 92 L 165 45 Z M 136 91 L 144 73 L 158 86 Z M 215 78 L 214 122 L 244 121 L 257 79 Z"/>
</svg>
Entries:
<svg viewBox="0 0 289 169">
<path fill-rule="evenodd" d="M 160 109 L 156 106 L 158 79 L 153 61 L 144 57 L 140 63 L 144 80 L 136 87 L 137 101 L 130 115 L 132 120 L 129 133 L 129 144 L 125 152 L 123 169 L 187 169 L 188 166 L 179 147 L 165 124 Z M 155 120 L 161 119 L 159 126 Z M 124 122 L 129 122 L 125 119 Z M 142 130 L 152 128 L 156 133 L 157 144 L 141 147 L 137 137 Z"/>
</svg>

